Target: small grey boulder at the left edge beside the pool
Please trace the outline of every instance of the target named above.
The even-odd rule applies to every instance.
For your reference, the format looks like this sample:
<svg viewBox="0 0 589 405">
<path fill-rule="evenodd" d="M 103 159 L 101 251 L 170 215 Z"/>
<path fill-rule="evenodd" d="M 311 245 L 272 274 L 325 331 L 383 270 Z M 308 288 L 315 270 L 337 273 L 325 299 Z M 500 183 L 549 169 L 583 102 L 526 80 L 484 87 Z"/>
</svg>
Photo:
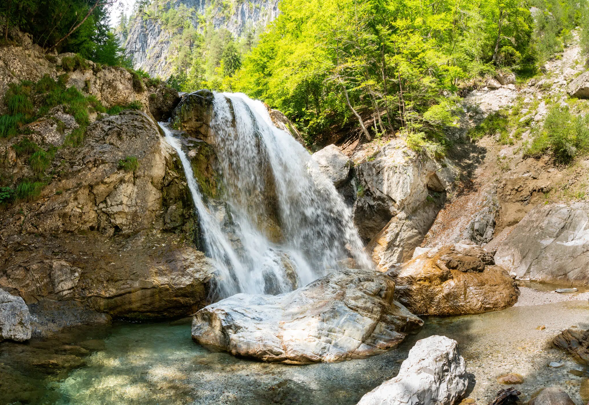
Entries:
<svg viewBox="0 0 589 405">
<path fill-rule="evenodd" d="M 25 341 L 31 338 L 31 316 L 21 297 L 0 289 L 0 340 Z"/>
</svg>

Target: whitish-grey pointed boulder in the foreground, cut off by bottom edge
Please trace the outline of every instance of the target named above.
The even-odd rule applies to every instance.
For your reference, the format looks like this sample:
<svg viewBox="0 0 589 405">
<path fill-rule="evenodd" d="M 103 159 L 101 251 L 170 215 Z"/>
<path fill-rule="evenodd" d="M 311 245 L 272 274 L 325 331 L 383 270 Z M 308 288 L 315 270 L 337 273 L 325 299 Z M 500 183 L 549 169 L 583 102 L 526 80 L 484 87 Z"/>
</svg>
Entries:
<svg viewBox="0 0 589 405">
<path fill-rule="evenodd" d="M 467 386 L 458 343 L 430 336 L 413 346 L 395 378 L 365 394 L 358 405 L 452 405 L 464 396 Z"/>
</svg>

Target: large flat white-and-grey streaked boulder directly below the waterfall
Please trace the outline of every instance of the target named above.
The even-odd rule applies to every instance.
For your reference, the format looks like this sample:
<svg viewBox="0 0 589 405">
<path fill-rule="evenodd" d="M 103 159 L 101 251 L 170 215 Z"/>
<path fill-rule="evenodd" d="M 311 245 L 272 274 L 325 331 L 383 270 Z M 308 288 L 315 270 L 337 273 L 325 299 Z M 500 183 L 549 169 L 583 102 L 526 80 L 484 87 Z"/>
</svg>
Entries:
<svg viewBox="0 0 589 405">
<path fill-rule="evenodd" d="M 236 294 L 198 311 L 195 341 L 233 355 L 303 364 L 384 353 L 423 325 L 385 274 L 345 270 L 279 296 Z"/>
</svg>

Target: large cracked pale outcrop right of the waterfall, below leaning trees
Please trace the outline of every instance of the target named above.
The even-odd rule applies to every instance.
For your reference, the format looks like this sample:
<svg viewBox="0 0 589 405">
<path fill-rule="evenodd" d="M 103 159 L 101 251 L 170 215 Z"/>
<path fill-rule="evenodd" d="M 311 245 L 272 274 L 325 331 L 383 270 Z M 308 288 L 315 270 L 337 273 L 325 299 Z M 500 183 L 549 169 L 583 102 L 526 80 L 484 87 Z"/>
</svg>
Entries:
<svg viewBox="0 0 589 405">
<path fill-rule="evenodd" d="M 354 223 L 360 236 L 370 240 L 372 260 L 382 270 L 409 260 L 452 187 L 456 176 L 451 165 L 414 152 L 397 139 L 355 172 Z"/>
</svg>

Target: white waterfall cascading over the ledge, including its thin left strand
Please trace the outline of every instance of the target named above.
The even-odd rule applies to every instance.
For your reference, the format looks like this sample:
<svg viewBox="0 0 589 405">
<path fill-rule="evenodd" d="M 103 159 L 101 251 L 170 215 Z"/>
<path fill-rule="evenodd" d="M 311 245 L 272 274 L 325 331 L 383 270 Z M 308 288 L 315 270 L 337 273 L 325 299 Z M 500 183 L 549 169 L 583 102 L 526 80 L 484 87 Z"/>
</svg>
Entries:
<svg viewBox="0 0 589 405">
<path fill-rule="evenodd" d="M 214 94 L 210 128 L 230 229 L 218 204 L 203 199 L 181 142 L 160 126 L 180 156 L 220 297 L 284 293 L 338 268 L 350 254 L 359 267 L 372 267 L 332 182 L 299 142 L 274 127 L 262 102 Z"/>
</svg>

